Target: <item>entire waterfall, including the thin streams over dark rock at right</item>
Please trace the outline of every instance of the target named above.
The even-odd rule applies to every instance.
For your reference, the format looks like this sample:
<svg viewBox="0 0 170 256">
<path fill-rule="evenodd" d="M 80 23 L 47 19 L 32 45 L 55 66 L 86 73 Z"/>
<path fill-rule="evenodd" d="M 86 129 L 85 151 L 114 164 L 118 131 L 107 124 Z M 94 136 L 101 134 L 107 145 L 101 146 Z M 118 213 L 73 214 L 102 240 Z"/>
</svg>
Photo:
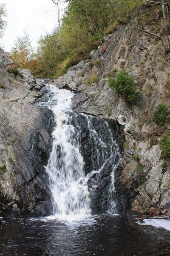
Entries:
<svg viewBox="0 0 170 256">
<path fill-rule="evenodd" d="M 106 121 L 85 114 L 77 114 L 71 110 L 71 99 L 74 93 L 69 90 L 59 90 L 54 85 L 47 85 L 48 102 L 39 105 L 50 108 L 55 117 L 56 127 L 52 133 L 52 150 L 45 167 L 49 176 L 49 185 L 53 201 L 53 213 L 57 215 L 91 214 L 90 192 L 96 188 L 97 183 L 88 188 L 88 181 L 94 174 L 99 175 L 102 167 L 108 160 L 120 158 L 119 148 L 113 140 L 113 135 Z M 85 175 L 86 163 L 83 156 L 82 124 L 86 127 L 88 139 L 91 143 L 90 166 L 91 172 Z M 116 161 L 117 163 L 118 161 Z M 113 164 L 113 170 L 116 168 Z M 112 184 L 109 188 L 110 206 L 108 212 L 115 213 L 116 205 L 113 201 L 114 172 Z"/>
</svg>

